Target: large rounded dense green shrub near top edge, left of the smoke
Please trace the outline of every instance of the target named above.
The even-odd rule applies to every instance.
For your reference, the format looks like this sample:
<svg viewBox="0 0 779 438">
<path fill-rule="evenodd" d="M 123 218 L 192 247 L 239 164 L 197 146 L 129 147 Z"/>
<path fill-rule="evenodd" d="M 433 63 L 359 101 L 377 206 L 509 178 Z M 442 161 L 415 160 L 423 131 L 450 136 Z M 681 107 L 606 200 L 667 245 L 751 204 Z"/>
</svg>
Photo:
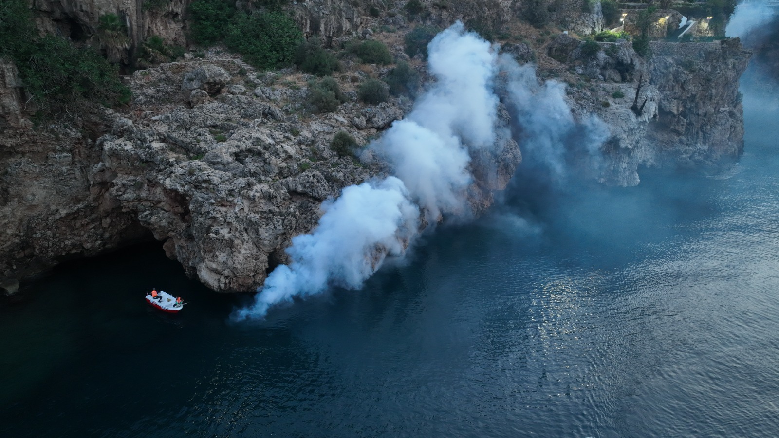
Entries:
<svg viewBox="0 0 779 438">
<path fill-rule="evenodd" d="M 303 34 L 284 12 L 238 13 L 224 43 L 260 69 L 291 65 Z"/>
</svg>

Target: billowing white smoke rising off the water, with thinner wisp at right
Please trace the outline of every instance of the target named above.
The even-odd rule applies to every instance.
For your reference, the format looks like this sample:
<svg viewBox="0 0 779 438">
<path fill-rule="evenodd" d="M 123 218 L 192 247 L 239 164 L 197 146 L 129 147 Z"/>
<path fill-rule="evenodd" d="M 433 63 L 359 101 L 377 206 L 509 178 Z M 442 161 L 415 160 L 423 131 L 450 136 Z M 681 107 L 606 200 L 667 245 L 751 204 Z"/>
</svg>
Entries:
<svg viewBox="0 0 779 438">
<path fill-rule="evenodd" d="M 273 270 L 252 306 L 238 309 L 234 320 L 261 319 L 270 306 L 330 285 L 359 288 L 386 256 L 404 255 L 421 216 L 435 224 L 444 214 L 467 212 L 466 192 L 474 180 L 469 150 L 495 147 L 499 130 L 508 129 L 499 125 L 493 91 L 499 68 L 509 69 L 509 106 L 523 126 L 520 145 L 543 157 L 555 175 L 564 173 L 559 144 L 576 128 L 564 86 L 540 86 L 531 67 L 509 58 L 499 62 L 496 49 L 460 22 L 431 41 L 428 69 L 436 82 L 407 118 L 369 146 L 395 176 L 347 187 L 324 203 L 312 233 L 292 239 L 291 263 Z"/>
</svg>

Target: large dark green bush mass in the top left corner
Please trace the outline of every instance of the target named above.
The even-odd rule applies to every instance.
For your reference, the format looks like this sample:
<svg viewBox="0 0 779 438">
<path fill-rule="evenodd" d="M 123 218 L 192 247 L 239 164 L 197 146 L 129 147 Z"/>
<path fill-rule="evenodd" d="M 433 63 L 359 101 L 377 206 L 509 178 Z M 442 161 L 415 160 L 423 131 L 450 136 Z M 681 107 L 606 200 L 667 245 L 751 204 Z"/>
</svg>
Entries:
<svg viewBox="0 0 779 438">
<path fill-rule="evenodd" d="M 26 0 L 0 5 L 0 57 L 16 64 L 38 115 L 76 117 L 93 111 L 95 103 L 129 102 L 130 90 L 119 81 L 115 65 L 63 37 L 40 37 L 34 23 Z"/>
</svg>

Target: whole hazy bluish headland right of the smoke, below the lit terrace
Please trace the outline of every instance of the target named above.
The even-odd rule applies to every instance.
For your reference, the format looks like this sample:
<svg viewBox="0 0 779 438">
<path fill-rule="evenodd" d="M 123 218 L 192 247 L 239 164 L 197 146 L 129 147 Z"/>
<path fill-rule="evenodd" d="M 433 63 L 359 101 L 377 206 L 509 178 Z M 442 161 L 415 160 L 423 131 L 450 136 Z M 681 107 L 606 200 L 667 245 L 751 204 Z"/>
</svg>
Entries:
<svg viewBox="0 0 779 438">
<path fill-rule="evenodd" d="M 576 118 L 595 114 L 609 127 L 601 182 L 636 185 L 640 165 L 716 169 L 741 154 L 738 78 L 750 54 L 738 38 L 653 41 L 649 61 L 629 42 L 597 44 L 597 52 L 583 53 L 583 41 L 562 34 L 548 44 L 547 54 L 575 75 L 567 80 Z"/>
</svg>

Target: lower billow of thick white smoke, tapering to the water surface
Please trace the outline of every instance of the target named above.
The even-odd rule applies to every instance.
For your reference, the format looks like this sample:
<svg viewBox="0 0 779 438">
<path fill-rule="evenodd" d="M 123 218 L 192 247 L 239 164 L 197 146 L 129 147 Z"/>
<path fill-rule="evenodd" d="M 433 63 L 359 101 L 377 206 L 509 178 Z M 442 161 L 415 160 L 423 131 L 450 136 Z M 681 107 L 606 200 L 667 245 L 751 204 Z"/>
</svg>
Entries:
<svg viewBox="0 0 779 438">
<path fill-rule="evenodd" d="M 419 210 L 403 182 L 392 176 L 350 185 L 322 209 L 325 214 L 311 234 L 292 238 L 287 249 L 292 262 L 273 270 L 254 304 L 239 309 L 234 320 L 262 317 L 274 304 L 317 294 L 330 284 L 358 288 L 384 256 L 403 255 L 418 230 Z"/>
</svg>

